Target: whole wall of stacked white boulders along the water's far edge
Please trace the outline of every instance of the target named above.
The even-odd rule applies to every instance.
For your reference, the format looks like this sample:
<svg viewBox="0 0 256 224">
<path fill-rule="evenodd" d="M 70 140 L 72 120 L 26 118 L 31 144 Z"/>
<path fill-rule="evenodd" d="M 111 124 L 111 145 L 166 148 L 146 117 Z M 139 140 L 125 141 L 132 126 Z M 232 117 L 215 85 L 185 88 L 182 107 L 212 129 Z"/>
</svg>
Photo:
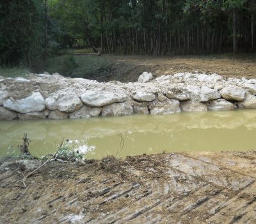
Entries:
<svg viewBox="0 0 256 224">
<path fill-rule="evenodd" d="M 217 74 L 198 73 L 152 79 L 152 74 L 147 72 L 136 83 L 99 83 L 65 78 L 60 74 L 0 79 L 0 120 L 256 108 L 254 79 L 224 79 Z"/>
</svg>

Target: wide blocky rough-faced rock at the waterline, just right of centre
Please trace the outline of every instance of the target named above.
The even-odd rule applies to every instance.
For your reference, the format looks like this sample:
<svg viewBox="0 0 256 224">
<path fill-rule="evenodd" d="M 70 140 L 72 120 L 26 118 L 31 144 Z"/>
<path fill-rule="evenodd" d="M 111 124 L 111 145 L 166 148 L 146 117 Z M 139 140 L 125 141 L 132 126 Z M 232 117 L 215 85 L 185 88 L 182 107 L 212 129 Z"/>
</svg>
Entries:
<svg viewBox="0 0 256 224">
<path fill-rule="evenodd" d="M 180 102 L 175 99 L 168 99 L 163 102 L 153 102 L 148 106 L 152 115 L 167 115 L 180 112 Z"/>
</svg>

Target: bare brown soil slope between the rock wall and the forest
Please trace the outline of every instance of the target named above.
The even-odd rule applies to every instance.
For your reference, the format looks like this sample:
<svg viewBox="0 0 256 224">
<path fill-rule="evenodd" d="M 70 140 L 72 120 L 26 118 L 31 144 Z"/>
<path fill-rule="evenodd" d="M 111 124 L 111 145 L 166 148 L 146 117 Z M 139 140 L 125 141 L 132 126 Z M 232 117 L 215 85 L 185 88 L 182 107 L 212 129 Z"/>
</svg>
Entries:
<svg viewBox="0 0 256 224">
<path fill-rule="evenodd" d="M 106 56 L 114 63 L 114 72 L 104 81 L 138 81 L 142 72 L 154 76 L 177 72 L 217 73 L 224 77 L 256 78 L 256 56 Z"/>
</svg>

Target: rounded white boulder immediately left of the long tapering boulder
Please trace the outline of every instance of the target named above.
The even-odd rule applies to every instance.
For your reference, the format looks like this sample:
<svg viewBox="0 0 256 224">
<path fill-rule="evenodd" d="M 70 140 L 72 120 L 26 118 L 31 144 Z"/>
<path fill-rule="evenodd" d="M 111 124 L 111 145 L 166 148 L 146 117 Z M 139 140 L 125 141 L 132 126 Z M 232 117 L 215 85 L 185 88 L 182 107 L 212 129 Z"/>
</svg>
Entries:
<svg viewBox="0 0 256 224">
<path fill-rule="evenodd" d="M 83 102 L 75 93 L 64 95 L 58 99 L 58 110 L 61 112 L 71 113 L 77 111 L 83 106 Z"/>
</svg>

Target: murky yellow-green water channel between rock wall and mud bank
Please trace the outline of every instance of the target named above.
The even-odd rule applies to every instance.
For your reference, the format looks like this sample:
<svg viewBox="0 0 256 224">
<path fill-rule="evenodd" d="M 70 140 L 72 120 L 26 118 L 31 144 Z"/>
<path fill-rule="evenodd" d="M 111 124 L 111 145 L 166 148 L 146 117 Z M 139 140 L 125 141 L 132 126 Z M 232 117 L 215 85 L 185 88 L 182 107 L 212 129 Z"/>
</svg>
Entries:
<svg viewBox="0 0 256 224">
<path fill-rule="evenodd" d="M 157 152 L 252 150 L 256 145 L 256 110 L 173 115 L 133 115 L 79 120 L 0 122 L 0 156 L 12 152 L 27 132 L 32 154 L 55 152 L 61 140 L 86 158 Z M 12 147 L 11 147 L 12 146 Z"/>
</svg>

